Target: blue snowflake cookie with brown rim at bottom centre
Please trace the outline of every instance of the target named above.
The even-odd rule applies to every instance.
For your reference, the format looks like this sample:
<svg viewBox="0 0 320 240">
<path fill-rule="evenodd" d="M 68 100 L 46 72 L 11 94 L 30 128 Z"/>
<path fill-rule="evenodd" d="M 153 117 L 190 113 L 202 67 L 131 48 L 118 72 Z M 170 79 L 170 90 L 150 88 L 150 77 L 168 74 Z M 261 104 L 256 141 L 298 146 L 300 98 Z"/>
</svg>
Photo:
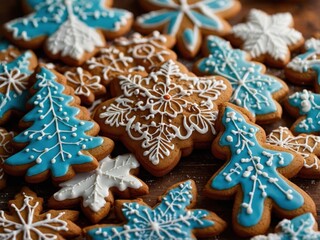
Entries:
<svg viewBox="0 0 320 240">
<path fill-rule="evenodd" d="M 96 225 L 85 228 L 89 239 L 195 239 L 222 232 L 226 223 L 213 212 L 191 209 L 196 201 L 192 180 L 173 185 L 160 203 L 150 208 L 142 200 L 116 201 L 121 225 Z"/>
</svg>

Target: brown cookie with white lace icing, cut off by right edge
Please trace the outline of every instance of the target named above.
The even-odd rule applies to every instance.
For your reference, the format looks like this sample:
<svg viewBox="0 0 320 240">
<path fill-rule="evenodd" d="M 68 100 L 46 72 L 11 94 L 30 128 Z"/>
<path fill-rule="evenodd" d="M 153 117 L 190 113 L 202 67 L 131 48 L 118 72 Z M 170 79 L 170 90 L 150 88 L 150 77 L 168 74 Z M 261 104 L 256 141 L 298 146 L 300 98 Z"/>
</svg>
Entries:
<svg viewBox="0 0 320 240">
<path fill-rule="evenodd" d="M 279 127 L 267 136 L 267 143 L 292 150 L 304 158 L 300 177 L 320 178 L 320 137 L 312 134 L 294 136 L 287 127 Z"/>
</svg>

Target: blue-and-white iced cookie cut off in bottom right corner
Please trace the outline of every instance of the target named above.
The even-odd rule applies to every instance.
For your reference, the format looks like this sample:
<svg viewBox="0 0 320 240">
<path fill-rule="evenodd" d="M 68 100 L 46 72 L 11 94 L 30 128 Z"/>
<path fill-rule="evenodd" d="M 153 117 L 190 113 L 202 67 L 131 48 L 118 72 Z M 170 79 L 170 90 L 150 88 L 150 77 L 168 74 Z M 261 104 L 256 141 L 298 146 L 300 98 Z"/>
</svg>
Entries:
<svg viewBox="0 0 320 240">
<path fill-rule="evenodd" d="M 259 235 L 251 240 L 320 240 L 317 223 L 311 213 L 305 213 L 294 219 L 283 219 L 276 226 L 276 233 Z"/>
</svg>

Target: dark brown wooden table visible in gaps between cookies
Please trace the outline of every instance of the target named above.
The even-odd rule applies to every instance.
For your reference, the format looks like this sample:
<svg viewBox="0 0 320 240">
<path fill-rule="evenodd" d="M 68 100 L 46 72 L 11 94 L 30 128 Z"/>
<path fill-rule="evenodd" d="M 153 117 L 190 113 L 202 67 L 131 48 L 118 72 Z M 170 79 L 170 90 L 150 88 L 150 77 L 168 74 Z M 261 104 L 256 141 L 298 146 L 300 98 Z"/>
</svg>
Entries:
<svg viewBox="0 0 320 240">
<path fill-rule="evenodd" d="M 139 14 L 141 11 L 137 7 L 137 0 L 114 0 L 115 6 L 126 8 L 133 11 L 135 14 Z M 277 12 L 291 12 L 295 19 L 296 29 L 301 31 L 305 38 L 311 37 L 316 31 L 320 30 L 320 1 L 317 0 L 241 0 L 242 10 L 241 12 L 230 19 L 232 24 L 240 22 L 248 13 L 251 8 L 262 9 L 268 13 Z M 21 16 L 21 10 L 18 0 L 0 0 L 0 24 L 6 21 Z M 182 60 L 183 61 L 183 60 Z M 187 66 L 191 66 L 190 62 L 186 62 Z M 283 78 L 283 71 L 278 69 L 268 69 L 269 73 L 272 73 L 280 78 Z M 291 91 L 297 91 L 299 88 L 290 86 Z M 283 119 L 272 124 L 263 126 L 267 132 L 271 131 L 277 126 L 290 126 L 293 119 L 288 116 L 286 112 L 283 114 Z M 124 147 L 117 143 L 115 154 L 124 153 L 126 150 Z M 206 197 L 203 197 L 201 192 L 204 185 L 210 179 L 215 171 L 222 165 L 222 161 L 215 159 L 209 150 L 196 150 L 190 156 L 181 159 L 178 166 L 168 175 L 156 178 L 141 170 L 140 178 L 143 179 L 150 188 L 150 194 L 144 196 L 143 199 L 150 205 L 154 205 L 156 199 L 161 195 L 167 187 L 170 185 L 183 181 L 186 179 L 195 180 L 198 187 L 198 208 L 205 208 L 216 212 L 219 216 L 225 219 L 231 224 L 231 210 L 233 201 L 216 201 Z M 294 183 L 304 189 L 313 198 L 317 204 L 318 215 L 320 215 L 320 181 L 319 180 L 305 180 L 305 179 L 292 179 Z M 12 199 L 16 193 L 18 193 L 22 186 L 28 185 L 32 190 L 38 193 L 39 196 L 47 199 L 50 197 L 57 188 L 53 186 L 50 181 L 41 184 L 26 184 L 23 178 L 9 177 L 8 184 L 5 189 L 0 191 L 0 209 L 7 209 L 7 202 Z M 110 214 L 112 218 L 112 213 Z M 273 226 L 281 219 L 273 218 Z M 104 220 L 108 221 L 108 219 Z M 317 218 L 320 223 L 320 216 Z M 80 226 L 86 226 L 90 224 L 88 220 L 81 215 L 78 222 Z M 228 229 L 216 239 L 238 239 L 232 233 L 232 228 L 229 224 Z"/>
</svg>

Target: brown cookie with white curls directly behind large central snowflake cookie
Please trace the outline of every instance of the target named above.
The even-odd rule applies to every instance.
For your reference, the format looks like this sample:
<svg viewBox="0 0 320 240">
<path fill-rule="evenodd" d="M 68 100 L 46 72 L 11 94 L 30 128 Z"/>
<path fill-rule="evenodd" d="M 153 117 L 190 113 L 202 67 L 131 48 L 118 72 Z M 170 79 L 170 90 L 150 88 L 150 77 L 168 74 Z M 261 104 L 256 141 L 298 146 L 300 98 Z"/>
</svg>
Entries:
<svg viewBox="0 0 320 240">
<path fill-rule="evenodd" d="M 108 85 L 119 74 L 150 71 L 170 59 L 176 60 L 177 55 L 170 50 L 174 43 L 174 38 L 157 31 L 145 37 L 134 33 L 129 38 L 117 38 L 113 45 L 102 48 L 83 67 L 100 76 L 103 85 Z"/>
</svg>

